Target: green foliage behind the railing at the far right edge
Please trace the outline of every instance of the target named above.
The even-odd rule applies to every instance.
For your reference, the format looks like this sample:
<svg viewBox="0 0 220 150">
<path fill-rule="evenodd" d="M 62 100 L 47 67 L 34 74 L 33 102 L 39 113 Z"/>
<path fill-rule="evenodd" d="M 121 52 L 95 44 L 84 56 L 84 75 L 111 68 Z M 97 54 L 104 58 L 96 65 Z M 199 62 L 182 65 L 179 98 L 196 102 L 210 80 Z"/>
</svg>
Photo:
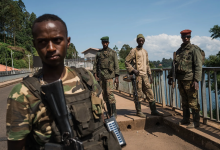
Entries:
<svg viewBox="0 0 220 150">
<path fill-rule="evenodd" d="M 210 55 L 207 59 L 205 59 L 204 65 L 206 67 L 219 67 L 220 66 L 220 51 L 218 52 L 218 54 Z M 210 77 L 211 77 L 211 89 L 215 90 L 214 74 L 211 73 Z M 220 72 L 217 72 L 217 87 L 218 87 L 218 92 L 220 94 Z"/>
</svg>

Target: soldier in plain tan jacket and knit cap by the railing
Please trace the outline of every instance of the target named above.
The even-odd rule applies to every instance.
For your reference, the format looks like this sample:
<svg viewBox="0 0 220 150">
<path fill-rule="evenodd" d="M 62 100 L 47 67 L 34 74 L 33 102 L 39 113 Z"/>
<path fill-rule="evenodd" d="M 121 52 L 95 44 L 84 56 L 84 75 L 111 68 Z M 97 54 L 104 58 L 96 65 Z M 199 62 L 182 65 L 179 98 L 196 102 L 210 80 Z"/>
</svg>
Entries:
<svg viewBox="0 0 220 150">
<path fill-rule="evenodd" d="M 136 75 L 137 81 L 137 93 L 139 101 L 142 101 L 143 98 L 141 97 L 142 91 L 146 95 L 147 100 L 149 101 L 151 114 L 152 115 L 162 115 L 156 110 L 154 94 L 151 89 L 151 85 L 153 83 L 149 60 L 148 60 L 148 53 L 145 49 L 143 49 L 143 45 L 145 42 L 145 38 L 142 34 L 137 35 L 137 43 L 138 46 L 133 48 L 128 56 L 125 59 L 125 66 L 129 74 L 134 73 Z M 148 79 L 148 75 L 150 76 L 150 83 Z M 136 108 L 136 115 L 142 118 L 146 116 L 141 112 L 141 104 L 135 104 Z"/>
</svg>

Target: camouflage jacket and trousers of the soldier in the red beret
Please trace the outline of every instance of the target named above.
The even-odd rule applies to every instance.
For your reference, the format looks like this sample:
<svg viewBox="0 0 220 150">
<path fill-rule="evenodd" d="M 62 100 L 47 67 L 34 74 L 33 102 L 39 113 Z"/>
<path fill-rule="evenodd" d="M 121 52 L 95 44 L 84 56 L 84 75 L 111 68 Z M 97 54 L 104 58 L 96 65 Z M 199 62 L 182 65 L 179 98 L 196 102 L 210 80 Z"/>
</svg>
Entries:
<svg viewBox="0 0 220 150">
<path fill-rule="evenodd" d="M 182 107 L 200 110 L 198 103 L 198 91 L 192 87 L 193 81 L 201 81 L 202 78 L 202 55 L 196 45 L 184 43 L 176 51 L 176 79 L 182 96 Z M 172 70 L 168 77 L 172 77 Z"/>
</svg>

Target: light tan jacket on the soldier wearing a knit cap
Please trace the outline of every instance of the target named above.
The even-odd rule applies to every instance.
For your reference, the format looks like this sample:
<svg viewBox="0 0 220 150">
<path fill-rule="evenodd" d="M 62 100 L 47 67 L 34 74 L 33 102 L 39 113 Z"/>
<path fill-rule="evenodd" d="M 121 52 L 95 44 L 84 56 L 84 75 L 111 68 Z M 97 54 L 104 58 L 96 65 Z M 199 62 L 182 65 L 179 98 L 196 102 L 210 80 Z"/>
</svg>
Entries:
<svg viewBox="0 0 220 150">
<path fill-rule="evenodd" d="M 143 48 L 133 48 L 125 58 L 125 66 L 128 73 L 131 73 L 134 69 L 136 69 L 140 72 L 140 75 L 151 74 L 148 53 Z"/>
</svg>

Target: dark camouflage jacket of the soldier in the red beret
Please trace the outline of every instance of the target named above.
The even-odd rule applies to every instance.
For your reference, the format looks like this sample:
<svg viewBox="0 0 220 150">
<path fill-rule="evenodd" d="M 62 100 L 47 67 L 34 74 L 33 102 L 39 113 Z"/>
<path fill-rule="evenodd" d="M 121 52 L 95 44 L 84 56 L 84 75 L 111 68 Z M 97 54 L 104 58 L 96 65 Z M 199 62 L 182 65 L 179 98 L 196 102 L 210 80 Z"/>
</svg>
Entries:
<svg viewBox="0 0 220 150">
<path fill-rule="evenodd" d="M 202 79 L 202 55 L 198 46 L 188 43 L 182 44 L 176 51 L 176 79 L 195 80 Z M 172 77 L 172 70 L 169 77 Z"/>
</svg>

